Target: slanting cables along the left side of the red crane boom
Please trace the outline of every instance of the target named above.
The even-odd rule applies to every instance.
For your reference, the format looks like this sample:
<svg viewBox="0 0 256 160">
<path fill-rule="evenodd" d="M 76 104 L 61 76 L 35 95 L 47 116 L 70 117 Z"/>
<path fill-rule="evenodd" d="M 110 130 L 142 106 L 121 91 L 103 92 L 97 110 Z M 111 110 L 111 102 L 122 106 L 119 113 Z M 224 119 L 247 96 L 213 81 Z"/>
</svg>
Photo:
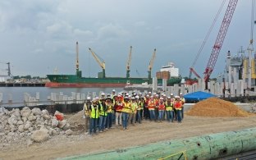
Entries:
<svg viewBox="0 0 256 160">
<path fill-rule="evenodd" d="M 196 55 L 196 57 L 195 57 L 195 59 L 194 59 L 194 62 L 193 62 L 193 64 L 192 64 L 192 66 L 191 66 L 192 68 L 194 68 L 194 65 L 195 65 L 195 63 L 197 62 L 200 53 L 202 53 L 203 47 L 204 47 L 204 45 L 205 45 L 205 43 L 206 43 L 206 41 L 207 41 L 207 39 L 208 39 L 210 33 L 211 33 L 212 30 L 213 30 L 213 26 L 215 25 L 215 23 L 216 23 L 216 21 L 217 21 L 217 18 L 218 18 L 218 16 L 220 15 L 220 13 L 221 13 L 221 11 L 222 11 L 222 8 L 223 8 L 223 6 L 224 6 L 224 4 L 225 4 L 225 2 L 226 2 L 226 0 L 223 0 L 223 1 L 222 1 L 222 5 L 221 5 L 221 7 L 219 8 L 219 10 L 217 11 L 217 15 L 215 16 L 215 18 L 214 18 L 214 20 L 213 20 L 213 23 L 212 23 L 210 29 L 208 30 L 208 33 L 206 34 L 205 38 L 203 39 L 203 43 L 202 43 L 202 45 L 201 45 L 201 47 L 200 47 L 200 49 L 199 49 L 199 52 L 197 53 L 197 55 Z"/>
</svg>

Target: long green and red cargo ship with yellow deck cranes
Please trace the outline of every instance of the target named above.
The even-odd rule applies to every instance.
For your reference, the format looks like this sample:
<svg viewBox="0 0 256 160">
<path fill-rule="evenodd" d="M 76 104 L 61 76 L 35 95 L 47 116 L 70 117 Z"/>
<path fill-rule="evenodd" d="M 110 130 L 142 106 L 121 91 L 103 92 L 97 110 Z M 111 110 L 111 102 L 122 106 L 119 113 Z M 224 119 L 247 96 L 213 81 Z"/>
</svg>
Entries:
<svg viewBox="0 0 256 160">
<path fill-rule="evenodd" d="M 99 66 L 102 67 L 103 71 L 98 72 L 97 78 L 82 77 L 82 71 L 79 70 L 79 57 L 78 57 L 78 43 L 76 42 L 76 72 L 74 75 L 47 75 L 50 82 L 45 84 L 45 87 L 53 88 L 124 88 L 127 84 L 139 85 L 139 84 L 152 84 L 153 79 L 151 77 L 151 68 L 153 65 L 153 58 L 155 57 L 156 49 L 154 49 L 153 57 L 149 62 L 149 75 L 146 78 L 131 78 L 130 77 L 130 55 L 126 66 L 126 77 L 107 77 L 105 75 L 105 62 L 99 58 L 91 48 L 89 51 L 94 56 L 95 60 L 98 62 Z M 131 54 L 131 47 L 130 47 Z M 179 80 L 178 80 L 179 81 Z M 167 80 L 167 85 L 176 80 Z M 162 85 L 162 79 L 158 79 L 158 85 Z"/>
</svg>

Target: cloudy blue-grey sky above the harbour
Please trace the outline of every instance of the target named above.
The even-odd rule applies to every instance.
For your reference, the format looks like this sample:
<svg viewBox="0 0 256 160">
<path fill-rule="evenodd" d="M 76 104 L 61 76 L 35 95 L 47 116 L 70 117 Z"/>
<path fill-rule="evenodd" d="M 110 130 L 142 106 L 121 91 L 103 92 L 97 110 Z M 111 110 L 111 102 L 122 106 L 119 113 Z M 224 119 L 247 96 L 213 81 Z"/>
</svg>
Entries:
<svg viewBox="0 0 256 160">
<path fill-rule="evenodd" d="M 221 26 L 228 0 L 196 62 L 203 76 Z M 203 43 L 222 0 L 2 0 L 0 1 L 0 75 L 11 63 L 12 75 L 45 77 L 75 74 L 75 43 L 80 71 L 96 77 L 101 67 L 88 48 L 106 63 L 107 76 L 126 76 L 133 47 L 130 76 L 146 77 L 156 48 L 154 76 L 174 62 L 181 76 Z M 243 46 L 248 54 L 251 0 L 239 1 L 212 77 L 224 71 L 228 50 L 235 56 Z"/>
</svg>

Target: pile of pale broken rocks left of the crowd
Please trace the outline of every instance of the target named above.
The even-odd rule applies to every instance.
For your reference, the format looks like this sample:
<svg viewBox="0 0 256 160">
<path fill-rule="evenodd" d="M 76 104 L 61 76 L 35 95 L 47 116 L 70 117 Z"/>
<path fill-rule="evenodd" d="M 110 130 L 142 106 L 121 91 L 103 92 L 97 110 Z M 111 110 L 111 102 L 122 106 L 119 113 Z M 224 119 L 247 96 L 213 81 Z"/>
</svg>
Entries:
<svg viewBox="0 0 256 160">
<path fill-rule="evenodd" d="M 8 111 L 0 107 L 0 144 L 10 144 L 16 139 L 29 139 L 27 144 L 43 142 L 54 135 L 72 135 L 66 120 L 57 121 L 47 110 L 23 107 Z"/>
</svg>

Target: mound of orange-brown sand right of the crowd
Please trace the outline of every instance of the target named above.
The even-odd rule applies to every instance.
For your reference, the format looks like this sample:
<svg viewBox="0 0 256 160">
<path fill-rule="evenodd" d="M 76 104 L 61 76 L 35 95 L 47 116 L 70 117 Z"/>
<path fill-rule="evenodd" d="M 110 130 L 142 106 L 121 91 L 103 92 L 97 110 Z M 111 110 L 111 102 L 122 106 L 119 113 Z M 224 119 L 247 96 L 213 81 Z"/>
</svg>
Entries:
<svg viewBox="0 0 256 160">
<path fill-rule="evenodd" d="M 197 117 L 249 117 L 252 115 L 220 98 L 208 98 L 195 103 L 186 114 Z"/>
</svg>

